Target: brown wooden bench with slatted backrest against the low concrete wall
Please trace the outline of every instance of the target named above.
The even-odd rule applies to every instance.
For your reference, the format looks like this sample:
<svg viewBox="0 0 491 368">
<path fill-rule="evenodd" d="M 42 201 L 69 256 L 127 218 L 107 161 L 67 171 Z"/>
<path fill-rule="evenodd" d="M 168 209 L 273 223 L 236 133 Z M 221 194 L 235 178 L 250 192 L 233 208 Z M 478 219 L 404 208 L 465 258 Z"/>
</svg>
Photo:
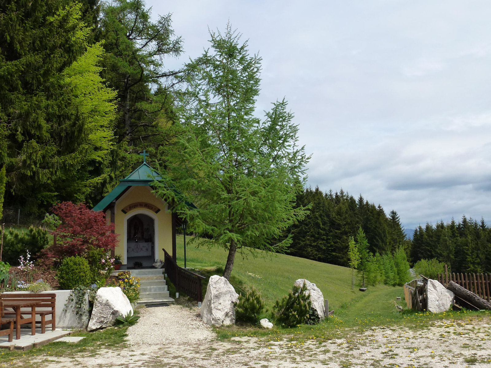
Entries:
<svg viewBox="0 0 491 368">
<path fill-rule="evenodd" d="M 41 317 L 41 333 L 46 332 L 46 326 L 51 325 L 53 331 L 56 329 L 56 294 L 55 293 L 3 293 L 0 295 L 0 301 L 5 302 L 36 302 L 36 316 Z M 21 310 L 22 315 L 30 315 L 30 310 Z M 46 320 L 46 316 L 51 315 L 51 319 Z M 13 311 L 5 311 L 5 316 L 15 317 Z"/>
</svg>

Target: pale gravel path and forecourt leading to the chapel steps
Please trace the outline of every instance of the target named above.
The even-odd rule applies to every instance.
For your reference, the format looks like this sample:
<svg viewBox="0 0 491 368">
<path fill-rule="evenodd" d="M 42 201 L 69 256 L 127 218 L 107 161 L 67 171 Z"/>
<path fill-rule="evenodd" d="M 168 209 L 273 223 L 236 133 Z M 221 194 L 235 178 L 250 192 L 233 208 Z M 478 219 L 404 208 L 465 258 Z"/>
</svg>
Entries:
<svg viewBox="0 0 491 368">
<path fill-rule="evenodd" d="M 491 318 L 437 321 L 411 331 L 377 328 L 362 335 L 319 343 L 257 338 L 221 342 L 199 318 L 198 309 L 177 305 L 144 309 L 128 329 L 128 348 L 95 356 L 45 357 L 42 367 L 488 367 Z M 43 357 L 39 357 L 43 359 Z M 11 366 L 12 367 L 12 366 Z"/>
</svg>

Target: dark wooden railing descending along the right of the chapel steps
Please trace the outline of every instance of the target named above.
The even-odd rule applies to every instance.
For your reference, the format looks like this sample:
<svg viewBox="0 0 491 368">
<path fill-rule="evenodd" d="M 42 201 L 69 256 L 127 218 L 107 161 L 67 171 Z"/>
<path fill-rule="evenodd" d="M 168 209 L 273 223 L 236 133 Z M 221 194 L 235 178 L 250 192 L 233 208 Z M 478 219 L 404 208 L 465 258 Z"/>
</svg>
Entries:
<svg viewBox="0 0 491 368">
<path fill-rule="evenodd" d="M 176 261 L 172 259 L 170 254 L 168 254 L 165 249 L 162 250 L 165 254 L 165 273 L 167 274 L 170 282 L 176 287 L 176 291 L 182 292 L 198 302 L 202 302 L 203 291 L 201 280 L 206 279 L 206 277 L 179 267 Z"/>
</svg>

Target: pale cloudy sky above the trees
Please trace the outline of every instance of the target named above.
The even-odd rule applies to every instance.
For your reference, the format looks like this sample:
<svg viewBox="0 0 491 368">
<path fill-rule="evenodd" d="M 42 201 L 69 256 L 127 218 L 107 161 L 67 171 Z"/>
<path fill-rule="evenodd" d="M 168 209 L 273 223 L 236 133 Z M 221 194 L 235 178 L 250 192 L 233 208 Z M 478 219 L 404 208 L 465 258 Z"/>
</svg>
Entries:
<svg viewBox="0 0 491 368">
<path fill-rule="evenodd" d="M 228 21 L 262 57 L 258 112 L 283 97 L 308 185 L 362 194 L 406 229 L 491 222 L 491 2 L 158 1 L 184 53 Z"/>
</svg>

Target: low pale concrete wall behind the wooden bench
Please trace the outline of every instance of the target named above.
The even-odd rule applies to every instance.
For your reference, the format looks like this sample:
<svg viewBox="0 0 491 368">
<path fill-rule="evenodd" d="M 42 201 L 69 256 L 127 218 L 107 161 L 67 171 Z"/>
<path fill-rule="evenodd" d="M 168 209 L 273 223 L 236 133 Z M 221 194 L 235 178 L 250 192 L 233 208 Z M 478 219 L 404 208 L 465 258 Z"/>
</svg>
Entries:
<svg viewBox="0 0 491 368">
<path fill-rule="evenodd" d="M 43 291 L 42 294 L 55 293 L 56 294 L 56 328 L 86 328 L 89 323 L 89 296 L 85 294 L 85 308 L 82 317 L 79 318 L 73 311 L 74 302 L 71 302 L 65 308 L 65 304 L 68 301 L 70 292 L 72 290 L 52 290 Z M 29 293 L 29 291 L 7 291 L 5 293 Z M 42 308 L 40 310 L 43 310 Z"/>
</svg>

